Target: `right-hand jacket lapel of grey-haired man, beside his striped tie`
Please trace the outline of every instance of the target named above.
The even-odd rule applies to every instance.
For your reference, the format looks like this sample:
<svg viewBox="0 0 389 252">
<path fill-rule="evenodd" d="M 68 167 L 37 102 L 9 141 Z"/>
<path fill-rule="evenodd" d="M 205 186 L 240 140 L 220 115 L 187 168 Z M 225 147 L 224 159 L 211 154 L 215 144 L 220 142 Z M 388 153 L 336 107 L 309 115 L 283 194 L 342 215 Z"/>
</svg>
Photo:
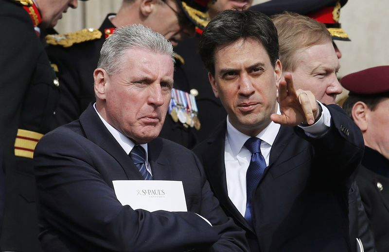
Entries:
<svg viewBox="0 0 389 252">
<path fill-rule="evenodd" d="M 156 138 L 147 144 L 151 171 L 155 180 L 174 180 L 168 155 L 163 153 L 162 139 Z"/>
</svg>

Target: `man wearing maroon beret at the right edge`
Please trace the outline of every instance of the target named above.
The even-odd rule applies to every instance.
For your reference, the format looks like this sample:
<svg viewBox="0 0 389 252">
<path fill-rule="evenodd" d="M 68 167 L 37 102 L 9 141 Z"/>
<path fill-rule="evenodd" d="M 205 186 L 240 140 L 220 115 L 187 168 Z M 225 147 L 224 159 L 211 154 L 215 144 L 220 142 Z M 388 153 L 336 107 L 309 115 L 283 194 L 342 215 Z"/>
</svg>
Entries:
<svg viewBox="0 0 389 252">
<path fill-rule="evenodd" d="M 362 131 L 365 153 L 356 182 L 378 252 L 389 251 L 389 66 L 371 67 L 340 80 L 350 91 L 343 109 Z"/>
</svg>

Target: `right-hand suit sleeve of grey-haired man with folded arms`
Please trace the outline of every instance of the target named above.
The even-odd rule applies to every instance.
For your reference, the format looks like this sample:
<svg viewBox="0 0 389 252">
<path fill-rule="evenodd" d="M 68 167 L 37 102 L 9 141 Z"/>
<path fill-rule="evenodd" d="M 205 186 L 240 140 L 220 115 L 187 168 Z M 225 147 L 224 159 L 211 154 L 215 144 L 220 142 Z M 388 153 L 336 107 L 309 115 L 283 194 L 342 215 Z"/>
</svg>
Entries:
<svg viewBox="0 0 389 252">
<path fill-rule="evenodd" d="M 219 201 L 212 193 L 200 161 L 195 154 L 193 155 L 202 178 L 202 200 L 199 214 L 212 223 L 219 235 L 218 241 L 212 246 L 212 251 L 248 251 L 245 232 L 224 213 Z"/>
</svg>

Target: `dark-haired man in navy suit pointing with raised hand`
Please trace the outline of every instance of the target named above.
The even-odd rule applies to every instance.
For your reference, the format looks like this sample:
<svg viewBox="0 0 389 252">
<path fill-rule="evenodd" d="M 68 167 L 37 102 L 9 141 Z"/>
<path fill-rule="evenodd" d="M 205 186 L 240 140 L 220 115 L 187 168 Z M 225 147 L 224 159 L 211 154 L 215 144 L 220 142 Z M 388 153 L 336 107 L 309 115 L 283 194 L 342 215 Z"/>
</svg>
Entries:
<svg viewBox="0 0 389 252">
<path fill-rule="evenodd" d="M 264 14 L 216 16 L 200 55 L 228 117 L 195 152 L 251 251 L 350 251 L 348 178 L 363 152 L 358 128 L 337 105 L 295 91 L 290 73 L 282 79 L 277 30 Z"/>
</svg>

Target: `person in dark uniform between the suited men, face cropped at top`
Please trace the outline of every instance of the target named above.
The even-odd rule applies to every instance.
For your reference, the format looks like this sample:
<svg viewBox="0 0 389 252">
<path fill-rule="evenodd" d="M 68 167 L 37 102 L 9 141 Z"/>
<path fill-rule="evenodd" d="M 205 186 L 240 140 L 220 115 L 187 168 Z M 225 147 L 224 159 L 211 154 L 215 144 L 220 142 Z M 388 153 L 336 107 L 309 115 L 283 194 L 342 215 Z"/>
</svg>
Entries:
<svg viewBox="0 0 389 252">
<path fill-rule="evenodd" d="M 244 10 L 250 7 L 252 0 L 216 0 L 212 1 L 207 13 L 208 19 L 212 19 L 219 12 L 230 9 Z M 205 26 L 204 26 L 205 27 Z M 194 38 L 184 40 L 175 50 L 185 59 L 183 69 L 187 74 L 191 94 L 196 95 L 198 118 L 201 123 L 200 130 L 196 131 L 198 142 L 205 140 L 227 116 L 220 100 L 217 99 L 208 80 L 208 71 L 205 69 L 198 54 L 198 39 L 202 28 L 196 28 L 197 35 Z"/>
</svg>

